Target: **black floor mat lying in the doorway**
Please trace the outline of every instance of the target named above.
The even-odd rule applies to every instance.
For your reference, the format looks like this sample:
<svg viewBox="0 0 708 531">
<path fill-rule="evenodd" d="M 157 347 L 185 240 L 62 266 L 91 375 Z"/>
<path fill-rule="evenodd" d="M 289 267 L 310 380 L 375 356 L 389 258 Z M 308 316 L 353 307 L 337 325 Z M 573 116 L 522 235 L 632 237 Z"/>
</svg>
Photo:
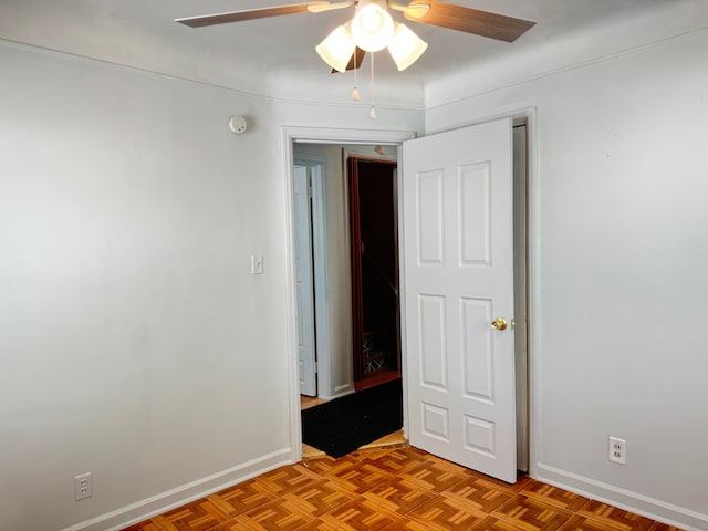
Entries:
<svg viewBox="0 0 708 531">
<path fill-rule="evenodd" d="M 301 415 L 302 441 L 342 457 L 402 428 L 400 378 L 304 409 Z"/>
</svg>

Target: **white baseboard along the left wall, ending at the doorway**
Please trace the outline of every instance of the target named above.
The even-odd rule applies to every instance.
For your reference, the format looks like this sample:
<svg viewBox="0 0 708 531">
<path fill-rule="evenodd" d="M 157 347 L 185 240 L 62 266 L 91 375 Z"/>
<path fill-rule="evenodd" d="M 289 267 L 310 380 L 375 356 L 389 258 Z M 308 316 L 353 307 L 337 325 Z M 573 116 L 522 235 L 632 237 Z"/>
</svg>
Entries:
<svg viewBox="0 0 708 531">
<path fill-rule="evenodd" d="M 118 531 L 127 525 L 140 522 L 156 514 L 162 514 L 185 503 L 204 498 L 207 494 L 292 462 L 292 449 L 283 448 L 267 456 L 237 465 L 233 468 L 183 485 L 176 489 L 101 514 L 85 522 L 76 523 L 62 531 Z"/>
</svg>

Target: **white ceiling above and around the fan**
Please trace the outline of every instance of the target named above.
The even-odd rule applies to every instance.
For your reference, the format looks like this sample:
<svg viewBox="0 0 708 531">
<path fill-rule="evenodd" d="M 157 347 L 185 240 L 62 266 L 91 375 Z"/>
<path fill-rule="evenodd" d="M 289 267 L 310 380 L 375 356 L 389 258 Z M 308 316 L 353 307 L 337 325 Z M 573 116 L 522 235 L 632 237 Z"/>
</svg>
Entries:
<svg viewBox="0 0 708 531">
<path fill-rule="evenodd" d="M 191 29 L 175 18 L 256 9 L 296 0 L 0 0 L 0 38 L 143 70 L 275 97 L 301 97 L 314 83 L 352 85 L 353 74 L 330 74 L 314 46 L 353 15 L 353 8 Z M 424 87 L 460 71 L 525 64 L 524 75 L 666 38 L 663 10 L 705 0 L 454 0 L 454 3 L 537 22 L 514 43 L 410 22 L 428 51 L 405 72 L 376 54 L 376 82 L 402 105 L 421 103 Z M 684 24 L 690 20 L 686 11 Z M 394 13 L 398 17 L 399 13 Z M 652 15 L 652 17 L 649 17 Z M 681 22 L 679 22 L 680 24 Z M 676 25 L 676 22 L 674 22 Z M 602 35 L 592 39 L 590 35 Z M 535 55 L 531 58 L 531 52 Z M 576 58 L 560 54 L 575 53 Z M 553 61 L 544 64 L 553 56 Z M 368 79 L 368 63 L 362 77 Z M 413 94 L 407 98 L 403 94 Z M 347 92 L 348 94 L 348 92 Z M 340 97 L 337 94 L 334 98 Z"/>
</svg>

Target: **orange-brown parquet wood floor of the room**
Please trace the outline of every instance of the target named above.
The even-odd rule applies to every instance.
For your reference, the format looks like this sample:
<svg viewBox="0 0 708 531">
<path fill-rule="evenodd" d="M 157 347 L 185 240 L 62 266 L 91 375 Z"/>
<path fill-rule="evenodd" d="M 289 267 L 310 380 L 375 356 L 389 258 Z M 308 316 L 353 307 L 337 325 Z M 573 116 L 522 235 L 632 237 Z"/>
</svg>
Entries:
<svg viewBox="0 0 708 531">
<path fill-rule="evenodd" d="M 281 467 L 125 531 L 680 531 L 522 477 L 508 485 L 407 445 Z"/>
</svg>

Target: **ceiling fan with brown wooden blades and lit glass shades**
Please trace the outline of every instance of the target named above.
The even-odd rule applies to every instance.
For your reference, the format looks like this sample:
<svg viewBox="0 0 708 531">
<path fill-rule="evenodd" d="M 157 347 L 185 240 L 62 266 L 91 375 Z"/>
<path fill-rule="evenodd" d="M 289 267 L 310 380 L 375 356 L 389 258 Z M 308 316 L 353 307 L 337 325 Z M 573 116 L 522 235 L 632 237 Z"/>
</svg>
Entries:
<svg viewBox="0 0 708 531">
<path fill-rule="evenodd" d="M 365 52 L 388 48 L 398 70 L 413 64 L 426 50 L 427 43 L 404 24 L 395 22 L 387 9 L 399 11 L 413 22 L 464 31 L 499 41 L 513 42 L 535 24 L 522 19 L 480 11 L 439 0 L 413 0 L 399 4 L 395 0 L 344 0 L 340 2 L 312 1 L 228 13 L 206 14 L 176 19 L 191 28 L 264 19 L 283 14 L 321 13 L 356 4 L 356 15 L 340 25 L 316 51 L 332 66 L 332 72 L 358 69 Z"/>
</svg>

